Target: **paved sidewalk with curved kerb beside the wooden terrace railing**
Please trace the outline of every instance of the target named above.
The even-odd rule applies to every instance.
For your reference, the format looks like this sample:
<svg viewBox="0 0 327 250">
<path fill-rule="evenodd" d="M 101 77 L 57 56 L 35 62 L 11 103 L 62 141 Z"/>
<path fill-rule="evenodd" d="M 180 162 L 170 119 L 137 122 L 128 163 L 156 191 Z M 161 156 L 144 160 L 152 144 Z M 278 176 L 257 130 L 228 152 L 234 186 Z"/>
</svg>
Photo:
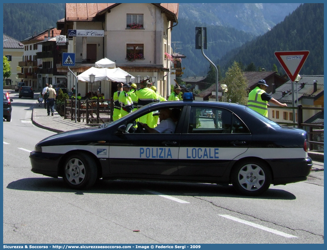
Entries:
<svg viewBox="0 0 327 250">
<path fill-rule="evenodd" d="M 86 122 L 76 122 L 75 120 L 71 121 L 70 119 L 64 119 L 58 114 L 55 110 L 53 116 L 48 116 L 47 110 L 44 109 L 44 103 L 42 107 L 39 107 L 39 104 L 35 104 L 33 107 L 32 113 L 32 122 L 35 126 L 50 130 L 53 132 L 64 132 L 80 128 L 89 128 L 90 126 L 86 125 Z"/>
</svg>

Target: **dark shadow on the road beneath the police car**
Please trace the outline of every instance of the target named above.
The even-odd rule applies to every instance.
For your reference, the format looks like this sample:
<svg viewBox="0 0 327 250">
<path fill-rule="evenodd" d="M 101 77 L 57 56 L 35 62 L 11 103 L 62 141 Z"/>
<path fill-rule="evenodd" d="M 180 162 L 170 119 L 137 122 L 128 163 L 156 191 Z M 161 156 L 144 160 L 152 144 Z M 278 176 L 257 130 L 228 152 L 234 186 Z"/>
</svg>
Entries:
<svg viewBox="0 0 327 250">
<path fill-rule="evenodd" d="M 268 189 L 259 197 L 241 196 L 232 186 L 221 186 L 207 183 L 135 181 L 135 180 L 99 180 L 88 190 L 66 188 L 62 178 L 25 178 L 13 181 L 7 188 L 38 192 L 65 192 L 83 195 L 84 193 L 151 195 L 144 189 L 155 190 L 165 195 L 196 197 L 233 197 L 243 199 L 295 200 L 296 196 L 282 189 Z"/>
</svg>

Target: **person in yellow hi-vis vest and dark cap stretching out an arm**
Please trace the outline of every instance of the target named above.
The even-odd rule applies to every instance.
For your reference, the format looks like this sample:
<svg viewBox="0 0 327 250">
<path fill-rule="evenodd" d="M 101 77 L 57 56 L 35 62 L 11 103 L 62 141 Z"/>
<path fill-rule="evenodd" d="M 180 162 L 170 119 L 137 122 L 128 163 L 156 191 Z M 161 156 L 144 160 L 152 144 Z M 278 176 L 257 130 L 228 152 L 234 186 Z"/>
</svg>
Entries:
<svg viewBox="0 0 327 250">
<path fill-rule="evenodd" d="M 257 86 L 249 93 L 248 99 L 248 107 L 266 117 L 268 117 L 268 102 L 281 107 L 287 107 L 286 103 L 281 103 L 269 96 L 266 93 L 267 87 L 265 80 L 259 80 Z"/>
</svg>

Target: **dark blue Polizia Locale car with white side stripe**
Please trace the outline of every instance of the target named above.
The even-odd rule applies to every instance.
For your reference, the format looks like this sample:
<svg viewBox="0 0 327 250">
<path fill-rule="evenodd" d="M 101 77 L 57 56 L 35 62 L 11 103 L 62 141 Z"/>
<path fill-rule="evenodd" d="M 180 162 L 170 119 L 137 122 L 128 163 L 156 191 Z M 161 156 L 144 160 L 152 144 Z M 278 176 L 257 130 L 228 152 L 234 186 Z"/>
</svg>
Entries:
<svg viewBox="0 0 327 250">
<path fill-rule="evenodd" d="M 178 109 L 171 134 L 146 133 L 136 121 Z M 211 112 L 203 112 L 211 111 Z M 32 171 L 85 189 L 97 179 L 232 184 L 260 195 L 270 184 L 306 180 L 308 134 L 281 127 L 250 108 L 224 102 L 154 102 L 112 123 L 49 136 L 35 146 Z"/>
</svg>

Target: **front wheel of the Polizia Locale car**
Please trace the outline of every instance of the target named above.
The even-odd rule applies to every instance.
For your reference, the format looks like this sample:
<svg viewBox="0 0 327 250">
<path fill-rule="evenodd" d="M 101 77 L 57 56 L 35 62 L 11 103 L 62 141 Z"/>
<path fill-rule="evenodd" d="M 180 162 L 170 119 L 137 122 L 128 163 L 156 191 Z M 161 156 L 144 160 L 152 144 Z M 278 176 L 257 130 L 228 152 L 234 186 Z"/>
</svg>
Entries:
<svg viewBox="0 0 327 250">
<path fill-rule="evenodd" d="M 96 164 L 87 154 L 73 154 L 65 162 L 62 178 L 70 188 L 91 188 L 97 178 Z"/>
</svg>

